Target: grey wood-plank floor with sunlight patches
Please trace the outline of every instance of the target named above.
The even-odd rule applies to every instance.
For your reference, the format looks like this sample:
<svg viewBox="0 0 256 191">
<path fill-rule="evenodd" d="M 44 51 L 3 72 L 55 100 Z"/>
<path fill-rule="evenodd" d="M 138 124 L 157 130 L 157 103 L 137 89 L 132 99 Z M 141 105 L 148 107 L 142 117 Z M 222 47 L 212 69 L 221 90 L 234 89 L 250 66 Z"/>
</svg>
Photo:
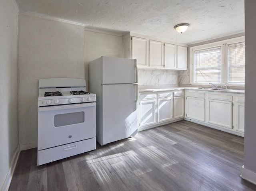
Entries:
<svg viewBox="0 0 256 191">
<path fill-rule="evenodd" d="M 20 153 L 10 191 L 255 191 L 239 177 L 244 138 L 188 121 L 37 166 Z"/>
</svg>

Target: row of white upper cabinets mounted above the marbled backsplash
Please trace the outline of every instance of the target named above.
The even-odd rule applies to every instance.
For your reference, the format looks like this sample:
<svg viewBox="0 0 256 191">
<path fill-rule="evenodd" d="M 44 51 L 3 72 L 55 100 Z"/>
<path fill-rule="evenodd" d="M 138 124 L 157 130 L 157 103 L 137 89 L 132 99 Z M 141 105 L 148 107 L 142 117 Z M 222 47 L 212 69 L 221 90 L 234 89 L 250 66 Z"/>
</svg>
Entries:
<svg viewBox="0 0 256 191">
<path fill-rule="evenodd" d="M 124 57 L 137 59 L 139 68 L 187 69 L 186 45 L 175 45 L 172 41 L 132 32 L 124 35 L 123 41 Z"/>
</svg>

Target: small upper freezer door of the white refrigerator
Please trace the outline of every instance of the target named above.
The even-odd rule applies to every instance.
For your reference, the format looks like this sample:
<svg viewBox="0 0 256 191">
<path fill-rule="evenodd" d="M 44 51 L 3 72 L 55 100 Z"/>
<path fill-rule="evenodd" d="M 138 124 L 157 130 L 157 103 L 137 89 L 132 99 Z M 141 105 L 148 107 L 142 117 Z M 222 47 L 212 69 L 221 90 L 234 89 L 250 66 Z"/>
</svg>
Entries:
<svg viewBox="0 0 256 191">
<path fill-rule="evenodd" d="M 102 56 L 102 84 L 136 83 L 135 59 Z"/>
</svg>

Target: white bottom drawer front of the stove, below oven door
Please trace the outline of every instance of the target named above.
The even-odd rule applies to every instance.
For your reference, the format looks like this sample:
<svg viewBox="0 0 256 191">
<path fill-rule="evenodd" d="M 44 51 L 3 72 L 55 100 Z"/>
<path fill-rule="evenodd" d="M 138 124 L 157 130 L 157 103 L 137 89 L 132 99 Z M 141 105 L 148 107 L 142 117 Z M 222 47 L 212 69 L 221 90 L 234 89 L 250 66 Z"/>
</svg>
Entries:
<svg viewBox="0 0 256 191">
<path fill-rule="evenodd" d="M 67 158 L 96 149 L 96 138 L 38 151 L 37 165 Z"/>
</svg>

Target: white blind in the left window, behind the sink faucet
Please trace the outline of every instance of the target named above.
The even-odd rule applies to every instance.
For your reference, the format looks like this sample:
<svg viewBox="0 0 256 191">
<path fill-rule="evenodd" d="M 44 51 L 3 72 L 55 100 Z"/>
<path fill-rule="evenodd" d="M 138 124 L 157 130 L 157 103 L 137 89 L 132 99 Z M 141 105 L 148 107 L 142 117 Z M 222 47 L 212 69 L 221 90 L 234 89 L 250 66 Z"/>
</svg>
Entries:
<svg viewBox="0 0 256 191">
<path fill-rule="evenodd" d="M 195 51 L 195 82 L 220 83 L 221 46 Z"/>
</svg>

